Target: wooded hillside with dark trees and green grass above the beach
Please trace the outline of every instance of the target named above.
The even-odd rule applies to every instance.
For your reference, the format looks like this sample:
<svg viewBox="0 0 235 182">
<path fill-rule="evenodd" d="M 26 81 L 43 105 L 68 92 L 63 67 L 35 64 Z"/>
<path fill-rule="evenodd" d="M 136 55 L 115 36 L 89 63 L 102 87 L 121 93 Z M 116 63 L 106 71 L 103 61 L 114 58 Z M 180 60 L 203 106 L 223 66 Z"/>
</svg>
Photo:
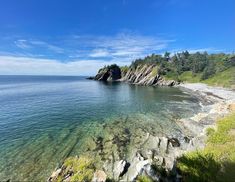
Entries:
<svg viewBox="0 0 235 182">
<path fill-rule="evenodd" d="M 154 67 L 152 74 L 158 73 L 166 79 L 204 82 L 211 85 L 215 83 L 215 85 L 225 87 L 235 85 L 235 81 L 233 81 L 235 80 L 234 54 L 189 53 L 183 51 L 171 56 L 169 52 L 166 52 L 164 56 L 152 54 L 143 59 L 136 59 L 132 62 L 130 68 L 136 69 L 138 66 L 146 64 L 156 65 L 158 70 L 155 70 Z"/>
</svg>

